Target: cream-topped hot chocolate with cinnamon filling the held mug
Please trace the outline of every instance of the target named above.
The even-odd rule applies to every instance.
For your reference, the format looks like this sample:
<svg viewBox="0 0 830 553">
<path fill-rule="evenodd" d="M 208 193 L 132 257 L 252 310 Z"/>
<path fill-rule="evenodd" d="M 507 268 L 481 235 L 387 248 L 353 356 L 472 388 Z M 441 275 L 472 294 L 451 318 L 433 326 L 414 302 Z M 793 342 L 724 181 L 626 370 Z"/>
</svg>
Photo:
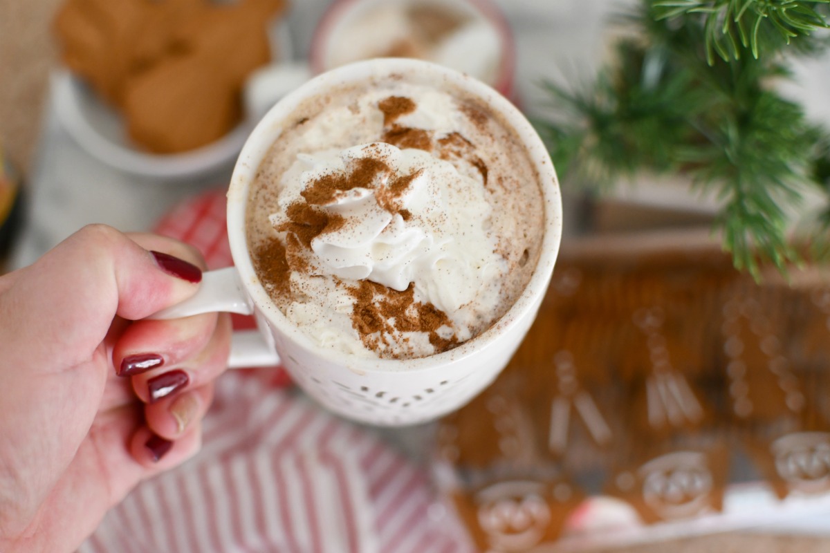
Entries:
<svg viewBox="0 0 830 553">
<path fill-rule="evenodd" d="M 312 97 L 251 183 L 256 274 L 321 347 L 452 349 L 510 309 L 539 259 L 544 183 L 522 144 L 448 86 L 393 75 Z"/>
</svg>

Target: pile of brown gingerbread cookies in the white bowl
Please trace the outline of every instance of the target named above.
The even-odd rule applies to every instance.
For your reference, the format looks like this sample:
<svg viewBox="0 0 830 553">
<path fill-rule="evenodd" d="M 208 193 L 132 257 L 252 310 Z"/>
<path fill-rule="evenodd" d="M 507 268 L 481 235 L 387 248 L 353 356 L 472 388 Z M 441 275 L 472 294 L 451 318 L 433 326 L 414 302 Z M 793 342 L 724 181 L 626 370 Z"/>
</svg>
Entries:
<svg viewBox="0 0 830 553">
<path fill-rule="evenodd" d="M 154 153 L 221 138 L 242 119 L 242 86 L 271 60 L 267 22 L 285 0 L 67 0 L 62 56 L 120 109 L 129 137 Z"/>
</svg>

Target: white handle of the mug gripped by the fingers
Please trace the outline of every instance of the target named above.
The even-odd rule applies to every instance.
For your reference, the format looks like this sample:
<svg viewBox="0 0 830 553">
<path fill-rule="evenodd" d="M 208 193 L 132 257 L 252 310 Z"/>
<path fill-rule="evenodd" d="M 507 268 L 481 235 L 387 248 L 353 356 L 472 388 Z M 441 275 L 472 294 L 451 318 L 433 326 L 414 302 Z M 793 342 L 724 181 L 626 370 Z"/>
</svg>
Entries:
<svg viewBox="0 0 830 553">
<path fill-rule="evenodd" d="M 149 318 L 168 319 L 190 317 L 213 312 L 251 315 L 253 302 L 242 286 L 236 267 L 207 271 L 202 275 L 199 289 L 190 298 L 154 313 Z M 230 369 L 255 366 L 276 366 L 280 357 L 259 330 L 237 330 L 231 338 Z"/>
</svg>

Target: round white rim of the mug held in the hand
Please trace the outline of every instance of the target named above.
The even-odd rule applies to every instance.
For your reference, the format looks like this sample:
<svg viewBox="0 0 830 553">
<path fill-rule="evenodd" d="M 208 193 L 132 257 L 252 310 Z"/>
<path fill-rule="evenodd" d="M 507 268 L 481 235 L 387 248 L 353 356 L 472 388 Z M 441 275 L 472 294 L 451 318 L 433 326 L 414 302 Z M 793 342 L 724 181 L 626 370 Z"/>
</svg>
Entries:
<svg viewBox="0 0 830 553">
<path fill-rule="evenodd" d="M 415 74 L 422 80 L 427 80 L 442 88 L 442 83 L 448 83 L 458 90 L 480 99 L 494 113 L 499 114 L 500 118 L 503 119 L 503 123 L 509 125 L 520 138 L 539 177 L 540 190 L 544 201 L 542 229 L 544 234 L 539 260 L 533 274 L 530 276 L 530 280 L 525 285 L 525 289 L 522 290 L 519 298 L 515 300 L 510 308 L 485 331 L 451 350 L 426 357 L 407 359 L 361 357 L 354 353 L 345 353 L 315 344 L 300 327 L 291 323 L 286 315 L 271 301 L 260 279 L 256 276 L 247 247 L 245 219 L 247 196 L 251 182 L 256 177 L 256 172 L 271 148 L 271 144 L 281 136 L 283 127 L 286 122 L 291 121 L 291 114 L 300 104 L 307 99 L 324 93 L 326 90 L 336 90 L 360 81 L 382 79 L 397 74 Z M 524 317 L 535 314 L 534 308 L 540 303 L 540 297 L 547 291 L 556 257 L 559 254 L 562 237 L 562 201 L 559 180 L 542 139 L 525 118 L 525 115 L 521 114 L 519 109 L 503 95 L 500 95 L 490 85 L 473 79 L 469 75 L 432 62 L 411 58 L 379 58 L 342 65 L 315 76 L 283 97 L 256 124 L 256 127 L 248 136 L 242 152 L 239 154 L 228 187 L 227 236 L 233 262 L 243 286 L 256 305 L 257 310 L 277 332 L 299 344 L 306 351 L 312 352 L 315 356 L 338 365 L 347 366 L 354 371 L 411 372 L 446 366 L 449 363 L 470 357 L 498 342 L 501 335 L 508 333 L 508 329 L 518 324 Z"/>
</svg>

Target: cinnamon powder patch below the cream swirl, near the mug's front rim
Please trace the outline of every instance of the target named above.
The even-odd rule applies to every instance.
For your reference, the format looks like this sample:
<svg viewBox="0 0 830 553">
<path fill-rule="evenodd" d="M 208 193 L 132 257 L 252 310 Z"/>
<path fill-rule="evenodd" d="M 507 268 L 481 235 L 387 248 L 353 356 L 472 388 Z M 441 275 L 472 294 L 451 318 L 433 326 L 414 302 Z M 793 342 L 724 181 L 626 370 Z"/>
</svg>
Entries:
<svg viewBox="0 0 830 553">
<path fill-rule="evenodd" d="M 432 303 L 416 302 L 413 284 L 398 292 L 363 280 L 350 291 L 354 297 L 352 327 L 369 349 L 378 351 L 382 346 L 393 345 L 396 332 L 427 333 L 436 353 L 458 345 L 455 334 L 443 338 L 437 332 L 439 328 L 452 327 L 447 313 Z"/>
</svg>

